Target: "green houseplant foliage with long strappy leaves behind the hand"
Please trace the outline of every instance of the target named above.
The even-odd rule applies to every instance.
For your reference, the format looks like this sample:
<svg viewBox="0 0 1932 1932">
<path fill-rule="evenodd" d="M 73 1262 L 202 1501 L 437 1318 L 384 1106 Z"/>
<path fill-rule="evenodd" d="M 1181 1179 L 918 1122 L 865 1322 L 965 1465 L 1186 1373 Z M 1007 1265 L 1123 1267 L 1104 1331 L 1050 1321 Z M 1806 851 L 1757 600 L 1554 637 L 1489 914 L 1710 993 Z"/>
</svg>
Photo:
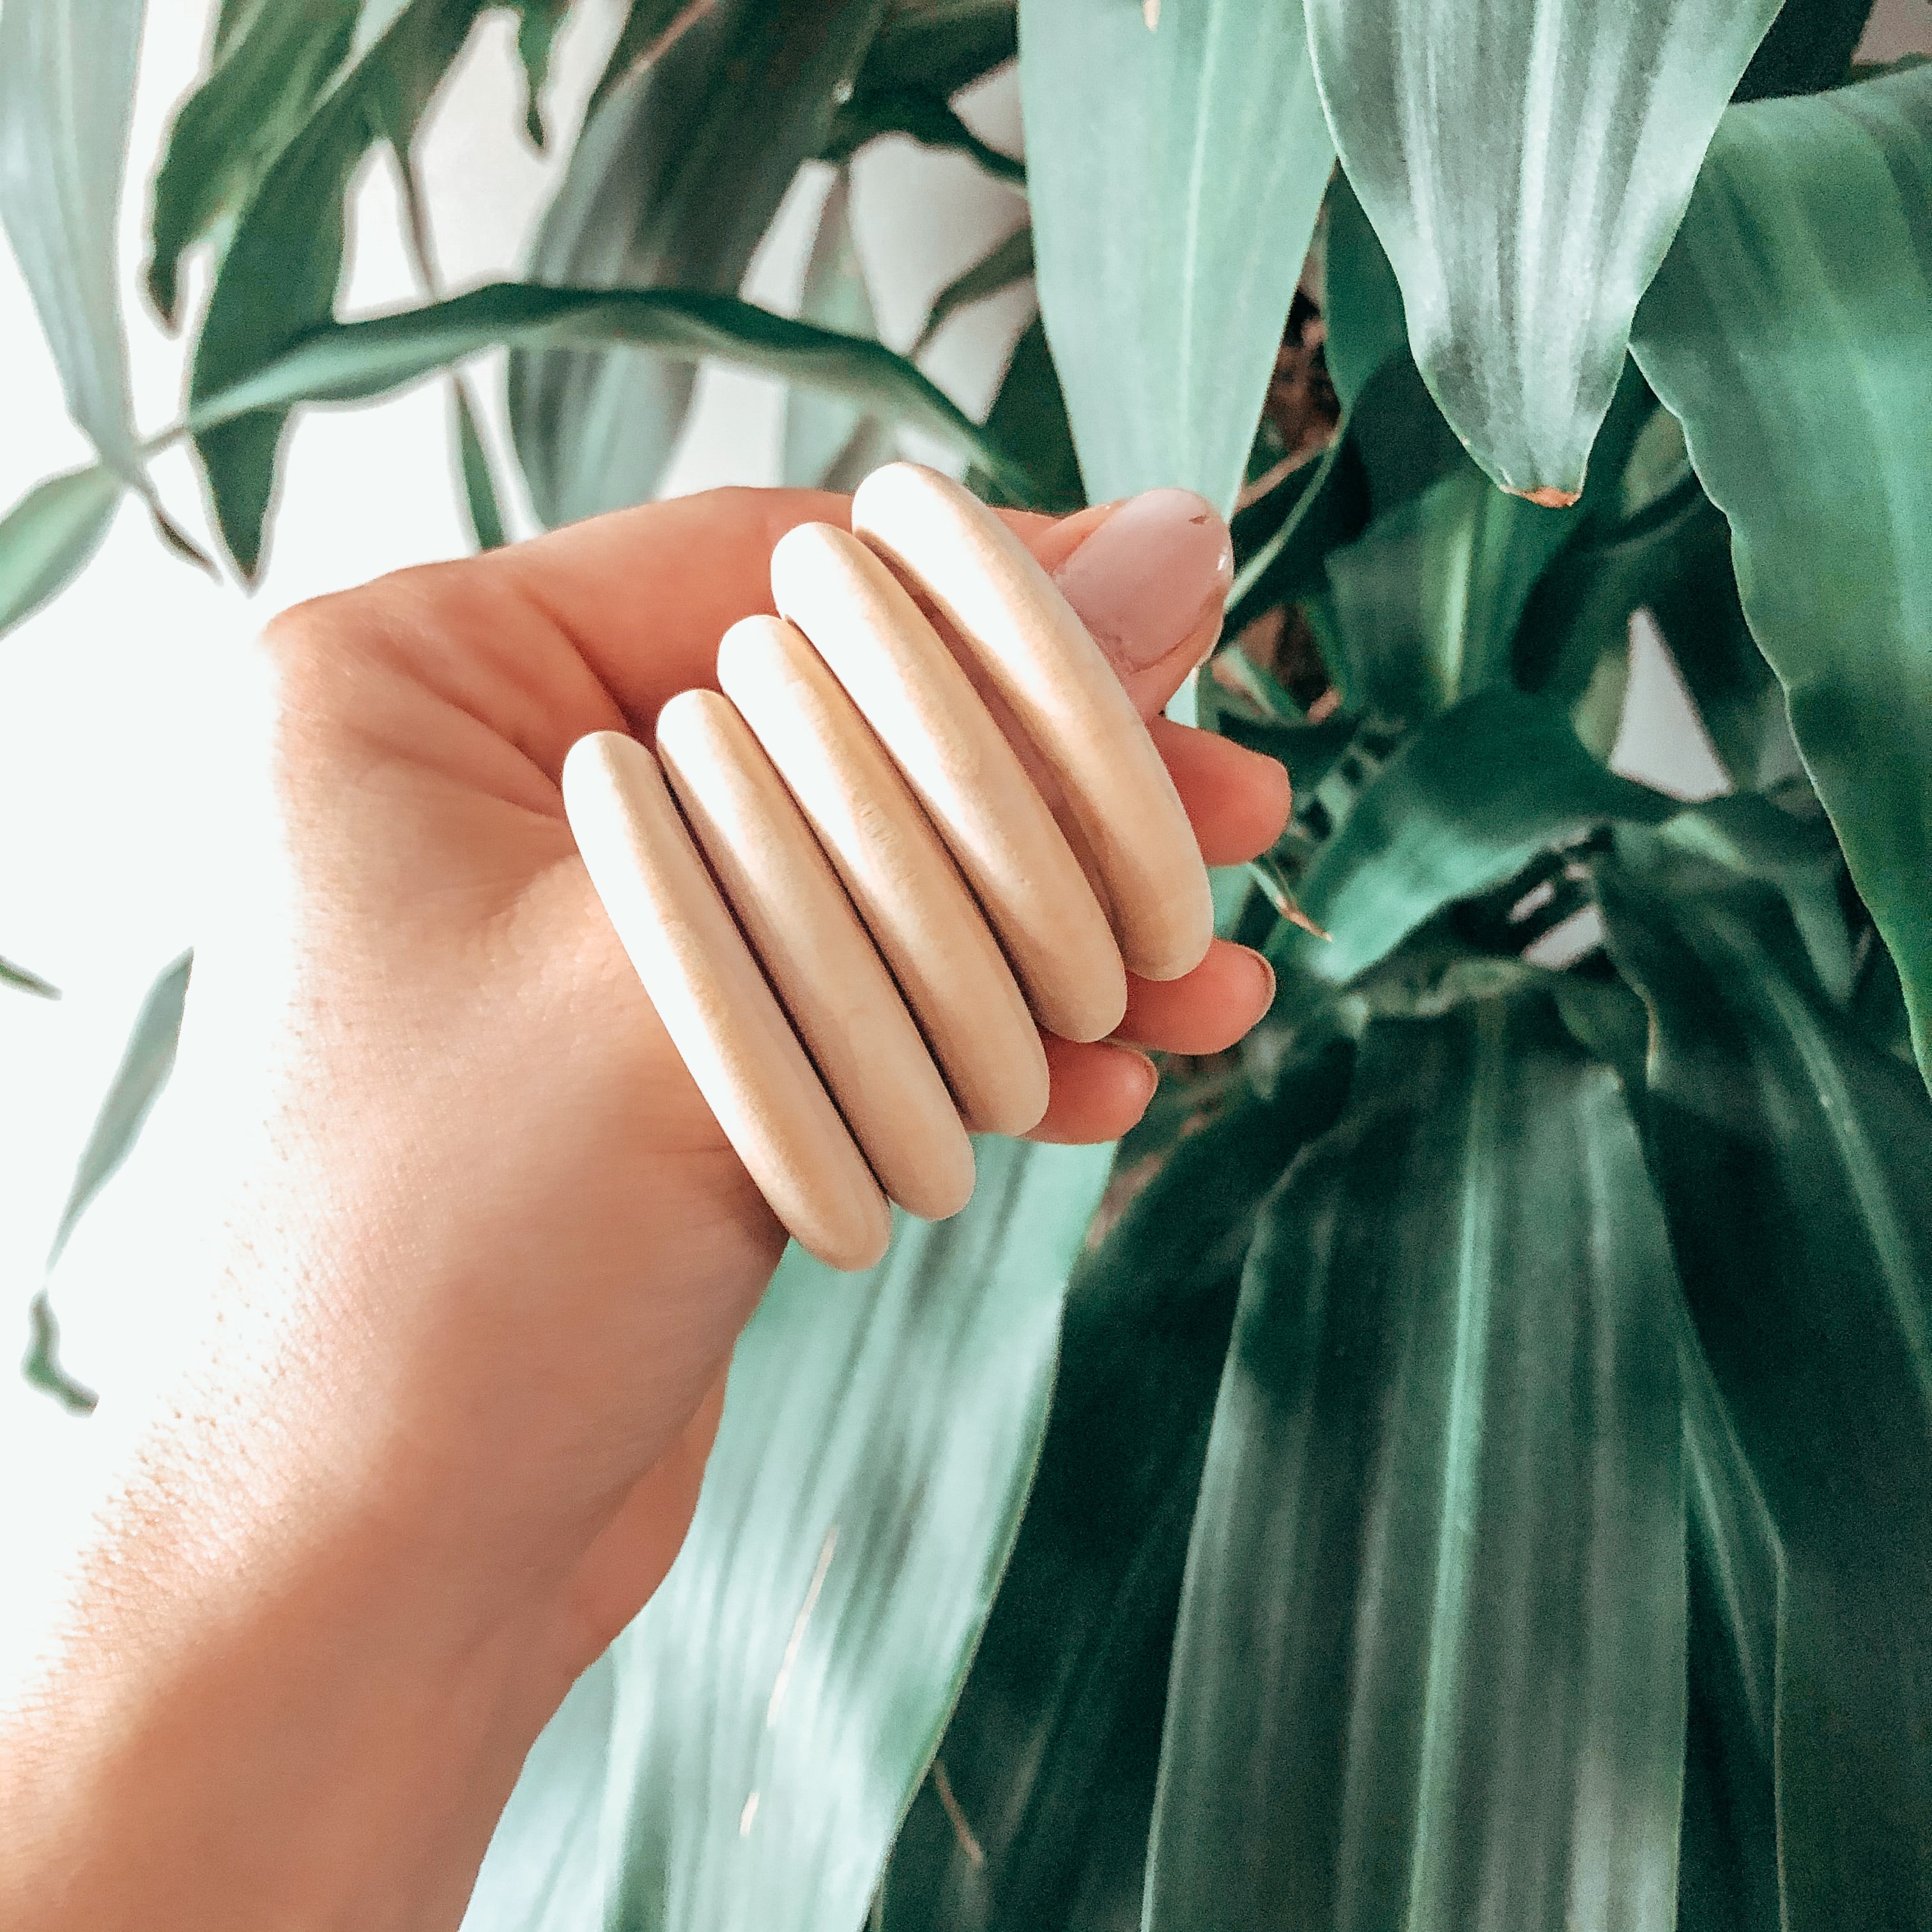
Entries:
<svg viewBox="0 0 1932 1932">
<path fill-rule="evenodd" d="M 209 249 L 162 435 L 243 578 L 305 402 L 508 342 L 554 520 L 732 357 L 794 481 L 914 423 L 1005 500 L 1217 500 L 1200 713 L 1298 806 L 1219 881 L 1281 980 L 1240 1053 L 983 1150 L 867 1281 L 786 1258 L 469 1924 L 1932 1922 L 1932 68 L 1855 70 L 1862 0 L 634 0 L 529 280 L 344 319 L 346 185 L 483 12 L 220 8 L 149 296 Z M 543 137 L 564 0 L 516 12 Z M 137 33 L 0 12 L 100 452 L 0 526 L 8 620 L 155 502 Z M 954 106 L 1014 52 L 1024 168 Z M 842 174 L 802 315 L 736 298 L 895 131 L 1024 176 L 927 325 L 1036 278 L 985 423 L 871 340 Z M 1725 796 L 1607 769 L 1638 611 Z"/>
</svg>

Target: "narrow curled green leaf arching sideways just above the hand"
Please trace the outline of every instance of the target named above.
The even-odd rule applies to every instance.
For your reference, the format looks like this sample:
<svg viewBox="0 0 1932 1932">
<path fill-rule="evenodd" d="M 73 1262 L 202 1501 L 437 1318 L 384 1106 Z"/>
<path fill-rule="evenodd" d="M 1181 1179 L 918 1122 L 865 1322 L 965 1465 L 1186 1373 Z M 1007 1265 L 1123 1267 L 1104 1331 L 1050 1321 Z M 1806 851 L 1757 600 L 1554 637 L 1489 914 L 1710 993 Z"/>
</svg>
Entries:
<svg viewBox="0 0 1932 1932">
<path fill-rule="evenodd" d="M 1032 491 L 1028 471 L 889 348 L 732 296 L 663 288 L 607 292 L 493 282 L 421 309 L 328 323 L 284 344 L 232 388 L 205 396 L 189 421 L 205 431 L 282 413 L 299 402 L 363 402 L 504 342 L 628 342 L 686 363 L 717 355 L 914 423 L 972 456 L 1007 489 Z"/>
</svg>

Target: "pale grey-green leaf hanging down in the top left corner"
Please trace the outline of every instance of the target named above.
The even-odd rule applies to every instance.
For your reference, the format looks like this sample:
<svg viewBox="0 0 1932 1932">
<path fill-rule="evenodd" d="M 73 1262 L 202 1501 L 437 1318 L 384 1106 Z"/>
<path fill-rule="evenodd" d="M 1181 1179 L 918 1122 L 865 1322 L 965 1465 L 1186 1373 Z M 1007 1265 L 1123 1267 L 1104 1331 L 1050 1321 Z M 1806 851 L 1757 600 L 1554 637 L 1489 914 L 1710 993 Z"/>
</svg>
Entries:
<svg viewBox="0 0 1932 1932">
<path fill-rule="evenodd" d="M 0 12 L 0 220 L 68 413 L 122 483 L 147 471 L 128 390 L 116 218 L 143 0 L 8 0 Z"/>
</svg>

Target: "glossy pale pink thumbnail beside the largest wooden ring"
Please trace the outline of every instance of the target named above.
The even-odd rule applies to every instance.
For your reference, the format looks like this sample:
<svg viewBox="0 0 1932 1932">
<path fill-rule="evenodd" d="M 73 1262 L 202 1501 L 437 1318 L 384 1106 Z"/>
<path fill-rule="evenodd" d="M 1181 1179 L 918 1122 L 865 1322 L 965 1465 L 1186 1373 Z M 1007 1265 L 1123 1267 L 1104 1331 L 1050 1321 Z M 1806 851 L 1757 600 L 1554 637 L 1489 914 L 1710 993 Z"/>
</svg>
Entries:
<svg viewBox="0 0 1932 1932">
<path fill-rule="evenodd" d="M 1235 547 L 1206 497 L 1150 489 L 1121 504 L 1055 582 L 1107 657 L 1142 670 L 1219 611 Z"/>
</svg>

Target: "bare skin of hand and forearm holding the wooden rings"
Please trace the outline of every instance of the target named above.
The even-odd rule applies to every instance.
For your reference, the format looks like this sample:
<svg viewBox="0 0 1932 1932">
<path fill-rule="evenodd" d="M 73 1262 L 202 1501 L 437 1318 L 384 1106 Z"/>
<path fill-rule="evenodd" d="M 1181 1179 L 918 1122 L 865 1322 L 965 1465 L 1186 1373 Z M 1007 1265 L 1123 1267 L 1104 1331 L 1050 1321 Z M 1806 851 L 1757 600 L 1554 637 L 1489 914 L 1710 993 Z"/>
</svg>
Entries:
<svg viewBox="0 0 1932 1932">
<path fill-rule="evenodd" d="M 1107 514 L 1016 526 L 1053 570 Z M 14 1932 L 454 1926 L 537 1731 L 670 1567 L 782 1233 L 556 779 L 711 682 L 804 520 L 846 498 L 599 518 L 299 607 L 243 672 L 178 1074 L 224 1126 L 209 1316 L 0 1716 Z M 1211 864 L 1289 808 L 1279 765 L 1157 715 L 1223 589 L 1122 672 Z M 1132 981 L 1117 1041 L 1049 1041 L 1036 1138 L 1115 1138 L 1138 1047 L 1225 1047 L 1269 991 L 1219 941 Z"/>
</svg>

